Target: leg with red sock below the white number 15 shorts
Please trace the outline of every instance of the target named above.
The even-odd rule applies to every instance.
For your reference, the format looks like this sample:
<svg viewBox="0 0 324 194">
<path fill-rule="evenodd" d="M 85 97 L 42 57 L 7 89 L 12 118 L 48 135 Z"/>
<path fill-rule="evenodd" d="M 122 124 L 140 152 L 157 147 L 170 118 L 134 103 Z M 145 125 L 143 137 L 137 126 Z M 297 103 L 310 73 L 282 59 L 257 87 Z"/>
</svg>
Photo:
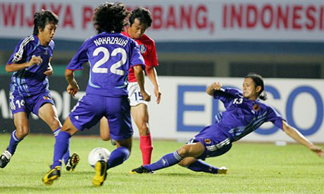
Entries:
<svg viewBox="0 0 324 194">
<path fill-rule="evenodd" d="M 132 106 L 132 118 L 139 129 L 139 148 L 142 151 L 143 165 L 151 164 L 151 155 L 153 151 L 152 137 L 149 131 L 149 112 L 147 105 L 140 103 Z"/>
</svg>

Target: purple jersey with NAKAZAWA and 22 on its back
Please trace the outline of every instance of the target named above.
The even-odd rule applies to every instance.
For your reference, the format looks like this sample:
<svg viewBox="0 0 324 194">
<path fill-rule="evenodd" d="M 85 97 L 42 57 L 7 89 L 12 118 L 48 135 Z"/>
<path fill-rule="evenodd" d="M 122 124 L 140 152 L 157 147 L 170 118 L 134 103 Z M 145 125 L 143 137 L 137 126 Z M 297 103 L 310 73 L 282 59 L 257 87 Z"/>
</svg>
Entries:
<svg viewBox="0 0 324 194">
<path fill-rule="evenodd" d="M 127 96 L 130 67 L 143 65 L 138 44 L 120 33 L 102 32 L 87 39 L 70 61 L 68 70 L 82 70 L 89 62 L 87 94 Z"/>
</svg>

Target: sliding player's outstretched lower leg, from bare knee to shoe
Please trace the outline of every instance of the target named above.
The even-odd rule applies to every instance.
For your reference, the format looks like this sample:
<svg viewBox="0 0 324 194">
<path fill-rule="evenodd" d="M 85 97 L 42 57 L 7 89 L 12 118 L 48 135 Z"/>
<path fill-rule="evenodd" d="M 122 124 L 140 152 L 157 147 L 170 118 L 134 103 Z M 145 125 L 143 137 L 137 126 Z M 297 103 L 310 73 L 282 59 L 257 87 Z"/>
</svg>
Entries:
<svg viewBox="0 0 324 194">
<path fill-rule="evenodd" d="M 130 173 L 132 174 L 142 174 L 149 173 L 158 169 L 163 169 L 166 167 L 171 167 L 174 164 L 181 162 L 185 157 L 199 157 L 205 151 L 205 146 L 200 143 L 192 143 L 182 145 L 181 148 L 178 148 L 174 153 L 169 153 L 161 157 L 160 160 L 152 164 L 147 164 L 137 169 L 132 169 Z"/>
</svg>

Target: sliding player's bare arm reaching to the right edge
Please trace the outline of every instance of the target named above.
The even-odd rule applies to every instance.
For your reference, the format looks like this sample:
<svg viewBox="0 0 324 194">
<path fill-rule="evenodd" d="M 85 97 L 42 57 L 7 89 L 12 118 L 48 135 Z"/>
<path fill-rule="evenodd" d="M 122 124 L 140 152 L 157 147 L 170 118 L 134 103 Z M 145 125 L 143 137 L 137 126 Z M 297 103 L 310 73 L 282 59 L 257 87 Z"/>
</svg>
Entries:
<svg viewBox="0 0 324 194">
<path fill-rule="evenodd" d="M 323 157 L 323 150 L 322 148 L 313 145 L 311 141 L 309 141 L 303 134 L 301 134 L 297 129 L 287 124 L 287 122 L 282 121 L 282 129 L 285 131 L 285 133 L 294 138 L 298 143 L 301 143 L 302 145 L 305 145 L 310 150 L 312 150 L 314 153 L 316 153 L 318 156 Z"/>
</svg>

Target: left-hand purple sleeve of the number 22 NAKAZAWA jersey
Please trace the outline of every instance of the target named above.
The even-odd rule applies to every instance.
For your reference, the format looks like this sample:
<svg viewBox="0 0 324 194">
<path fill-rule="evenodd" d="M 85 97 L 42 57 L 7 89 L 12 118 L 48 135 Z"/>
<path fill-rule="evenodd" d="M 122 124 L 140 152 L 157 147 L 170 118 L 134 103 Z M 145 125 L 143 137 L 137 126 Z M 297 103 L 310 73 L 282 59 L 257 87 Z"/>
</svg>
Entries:
<svg viewBox="0 0 324 194">
<path fill-rule="evenodd" d="M 88 56 L 87 56 L 87 42 L 85 41 L 77 50 L 77 53 L 73 58 L 71 59 L 70 63 L 66 67 L 68 70 L 83 70 L 83 63 L 86 63 L 88 61 Z"/>
</svg>

